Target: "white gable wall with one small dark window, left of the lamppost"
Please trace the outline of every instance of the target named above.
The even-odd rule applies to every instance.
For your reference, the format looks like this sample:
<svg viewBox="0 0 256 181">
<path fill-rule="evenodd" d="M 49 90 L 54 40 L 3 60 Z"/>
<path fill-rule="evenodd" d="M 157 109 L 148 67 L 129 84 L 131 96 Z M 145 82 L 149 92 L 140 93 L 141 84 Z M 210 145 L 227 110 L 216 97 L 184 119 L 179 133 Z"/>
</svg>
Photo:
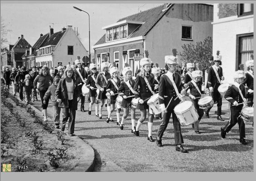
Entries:
<svg viewBox="0 0 256 181">
<path fill-rule="evenodd" d="M 68 55 L 68 46 L 73 46 L 73 55 Z M 68 65 L 68 62 L 73 64 L 77 56 L 80 56 L 81 59 L 84 56 L 89 57 L 87 50 L 79 41 L 75 32 L 70 28 L 64 33 L 53 51 L 53 67 L 56 67 L 58 62 L 62 62 L 63 66 Z"/>
</svg>

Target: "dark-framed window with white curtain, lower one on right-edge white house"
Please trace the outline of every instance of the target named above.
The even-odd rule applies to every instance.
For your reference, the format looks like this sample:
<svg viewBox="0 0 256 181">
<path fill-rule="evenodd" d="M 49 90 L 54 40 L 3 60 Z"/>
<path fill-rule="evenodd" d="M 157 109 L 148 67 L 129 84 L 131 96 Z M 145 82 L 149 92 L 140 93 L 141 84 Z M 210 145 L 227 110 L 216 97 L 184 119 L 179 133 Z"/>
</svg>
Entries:
<svg viewBox="0 0 256 181">
<path fill-rule="evenodd" d="M 246 65 L 253 55 L 253 33 L 237 35 L 237 63 L 236 70 L 240 64 Z M 244 70 L 245 71 L 245 70 Z"/>
</svg>

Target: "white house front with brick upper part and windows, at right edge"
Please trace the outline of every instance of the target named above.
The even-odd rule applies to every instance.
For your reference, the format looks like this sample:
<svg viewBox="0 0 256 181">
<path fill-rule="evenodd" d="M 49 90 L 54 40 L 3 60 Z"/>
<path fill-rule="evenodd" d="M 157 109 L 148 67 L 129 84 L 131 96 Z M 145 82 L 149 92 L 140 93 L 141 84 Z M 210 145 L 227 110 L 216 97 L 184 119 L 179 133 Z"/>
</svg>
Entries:
<svg viewBox="0 0 256 181">
<path fill-rule="evenodd" d="M 220 51 L 225 80 L 232 83 L 253 55 L 253 4 L 214 4 L 213 10 L 213 53 Z"/>
</svg>

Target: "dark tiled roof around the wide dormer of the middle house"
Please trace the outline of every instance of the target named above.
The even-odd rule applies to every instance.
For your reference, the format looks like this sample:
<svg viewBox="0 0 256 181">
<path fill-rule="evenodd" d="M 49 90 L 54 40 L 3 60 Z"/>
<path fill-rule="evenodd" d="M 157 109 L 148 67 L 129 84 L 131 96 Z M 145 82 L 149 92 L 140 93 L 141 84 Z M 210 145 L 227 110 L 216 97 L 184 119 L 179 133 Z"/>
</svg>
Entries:
<svg viewBox="0 0 256 181">
<path fill-rule="evenodd" d="M 169 6 L 169 8 L 171 6 Z M 117 22 L 123 20 L 145 22 L 144 24 L 141 24 L 140 27 L 131 34 L 130 38 L 145 36 L 150 31 L 150 29 L 159 21 L 159 19 L 161 19 L 161 17 L 167 12 L 167 10 L 163 12 L 162 10 L 164 9 L 166 9 L 166 4 L 127 16 L 125 18 L 119 19 Z M 102 43 L 106 43 L 105 34 L 99 39 L 97 43 L 95 43 L 95 45 Z"/>
</svg>

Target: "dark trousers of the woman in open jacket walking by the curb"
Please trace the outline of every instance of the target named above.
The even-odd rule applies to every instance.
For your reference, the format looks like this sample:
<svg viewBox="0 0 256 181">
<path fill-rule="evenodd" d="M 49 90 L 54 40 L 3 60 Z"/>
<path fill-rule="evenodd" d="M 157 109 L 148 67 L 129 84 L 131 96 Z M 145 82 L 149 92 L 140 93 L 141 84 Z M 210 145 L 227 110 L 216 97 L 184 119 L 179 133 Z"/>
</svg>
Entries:
<svg viewBox="0 0 256 181">
<path fill-rule="evenodd" d="M 68 105 L 72 105 L 72 100 L 68 100 Z M 68 121 L 68 133 L 74 133 L 76 110 L 70 107 L 62 108 L 62 113 L 63 113 L 62 128 L 66 127 L 66 123 Z"/>
</svg>

